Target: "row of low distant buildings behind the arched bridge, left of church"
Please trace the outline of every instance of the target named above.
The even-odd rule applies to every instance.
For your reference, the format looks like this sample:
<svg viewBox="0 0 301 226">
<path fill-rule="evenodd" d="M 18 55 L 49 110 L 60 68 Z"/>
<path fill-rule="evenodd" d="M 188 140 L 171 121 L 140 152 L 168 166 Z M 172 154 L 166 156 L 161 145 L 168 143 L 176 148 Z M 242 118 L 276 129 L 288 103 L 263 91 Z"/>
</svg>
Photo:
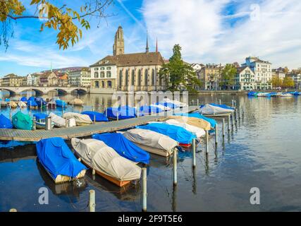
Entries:
<svg viewBox="0 0 301 226">
<path fill-rule="evenodd" d="M 90 87 L 90 69 L 78 67 L 75 69 L 44 71 L 31 73 L 27 76 L 17 76 L 10 73 L 0 78 L 2 86 L 82 86 Z"/>
</svg>

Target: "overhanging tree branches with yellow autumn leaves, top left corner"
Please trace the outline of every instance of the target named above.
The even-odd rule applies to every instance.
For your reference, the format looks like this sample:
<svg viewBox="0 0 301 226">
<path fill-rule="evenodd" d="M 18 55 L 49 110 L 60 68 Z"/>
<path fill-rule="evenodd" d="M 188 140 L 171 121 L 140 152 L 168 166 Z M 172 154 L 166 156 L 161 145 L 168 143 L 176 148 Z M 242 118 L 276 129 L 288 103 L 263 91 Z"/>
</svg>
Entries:
<svg viewBox="0 0 301 226">
<path fill-rule="evenodd" d="M 88 20 L 95 18 L 105 18 L 106 9 L 113 0 L 84 1 L 79 10 L 69 8 L 66 4 L 51 4 L 49 0 L 32 0 L 28 8 L 35 8 L 35 15 L 25 15 L 25 6 L 20 0 L 0 0 L 0 24 L 1 36 L 0 44 L 8 48 L 8 40 L 13 37 L 13 21 L 25 19 L 43 19 L 40 31 L 44 28 L 58 30 L 56 43 L 59 48 L 67 49 L 69 43 L 72 45 L 82 38 L 80 28 L 90 29 Z M 71 4 L 71 3 L 70 3 Z"/>
</svg>

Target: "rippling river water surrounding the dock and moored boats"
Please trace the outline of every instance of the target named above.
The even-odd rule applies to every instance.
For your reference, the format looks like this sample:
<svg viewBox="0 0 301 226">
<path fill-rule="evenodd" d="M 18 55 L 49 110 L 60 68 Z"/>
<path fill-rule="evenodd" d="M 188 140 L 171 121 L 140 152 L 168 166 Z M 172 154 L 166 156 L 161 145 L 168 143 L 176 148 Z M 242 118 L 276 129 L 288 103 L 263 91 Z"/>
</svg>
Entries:
<svg viewBox="0 0 301 226">
<path fill-rule="evenodd" d="M 3 94 L 6 97 L 7 94 Z M 102 110 L 110 95 L 80 95 L 87 105 Z M 12 97 L 13 98 L 13 97 Z M 19 97 L 15 97 L 18 99 Z M 62 100 L 72 100 L 66 95 Z M 192 153 L 179 153 L 178 186 L 173 189 L 172 160 L 151 156 L 147 168 L 148 211 L 300 211 L 301 210 L 301 97 L 245 95 L 190 96 L 199 104 L 236 100 L 245 115 L 225 138 L 209 138 L 192 170 Z M 91 109 L 91 107 L 85 107 Z M 67 111 L 82 109 L 68 107 Z M 23 110 L 27 111 L 27 109 Z M 61 114 L 56 110 L 57 114 Z M 9 115 L 7 109 L 1 113 Z M 221 120 L 219 135 L 221 135 Z M 70 145 L 70 143 L 68 143 Z M 36 159 L 34 143 L 0 144 L 0 211 L 87 211 L 89 190 L 96 191 L 97 211 L 140 211 L 139 184 L 119 189 L 90 170 L 82 185 L 55 185 Z M 49 204 L 39 204 L 39 188 L 49 189 Z M 250 189 L 260 191 L 260 204 L 250 203 Z"/>
</svg>

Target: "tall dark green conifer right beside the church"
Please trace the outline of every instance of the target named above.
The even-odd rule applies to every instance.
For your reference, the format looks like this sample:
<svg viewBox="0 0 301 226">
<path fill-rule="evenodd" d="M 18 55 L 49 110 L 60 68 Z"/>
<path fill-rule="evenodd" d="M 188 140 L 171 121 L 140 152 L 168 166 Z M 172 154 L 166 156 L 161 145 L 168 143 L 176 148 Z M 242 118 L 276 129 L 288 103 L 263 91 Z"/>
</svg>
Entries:
<svg viewBox="0 0 301 226">
<path fill-rule="evenodd" d="M 202 83 L 192 67 L 183 61 L 180 51 L 180 45 L 175 44 L 173 46 L 173 56 L 167 64 L 162 66 L 159 76 L 168 84 L 168 90 L 179 91 L 184 89 L 196 93 L 196 88 L 200 87 Z"/>
</svg>

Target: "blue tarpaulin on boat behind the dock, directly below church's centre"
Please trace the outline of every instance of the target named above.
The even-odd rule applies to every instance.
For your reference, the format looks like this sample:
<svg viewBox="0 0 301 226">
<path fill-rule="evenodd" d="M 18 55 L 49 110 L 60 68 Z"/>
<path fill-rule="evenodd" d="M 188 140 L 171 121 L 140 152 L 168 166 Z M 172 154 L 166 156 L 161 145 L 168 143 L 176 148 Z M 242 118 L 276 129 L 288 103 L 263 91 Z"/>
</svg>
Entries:
<svg viewBox="0 0 301 226">
<path fill-rule="evenodd" d="M 105 112 L 104 112 L 105 114 Z M 134 107 L 121 106 L 121 107 L 108 107 L 106 109 L 106 115 L 111 119 L 131 119 L 137 117 L 137 112 Z M 139 116 L 143 116 L 142 112 L 139 113 Z"/>
</svg>

